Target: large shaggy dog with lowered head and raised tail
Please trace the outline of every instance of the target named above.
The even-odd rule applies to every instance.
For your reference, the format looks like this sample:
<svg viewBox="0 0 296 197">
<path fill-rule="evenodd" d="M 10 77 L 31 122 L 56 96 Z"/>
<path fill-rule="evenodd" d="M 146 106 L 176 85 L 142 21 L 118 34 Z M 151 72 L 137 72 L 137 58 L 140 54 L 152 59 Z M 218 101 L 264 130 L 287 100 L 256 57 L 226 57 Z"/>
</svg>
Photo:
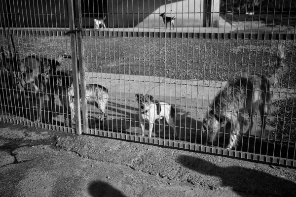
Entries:
<svg viewBox="0 0 296 197">
<path fill-rule="evenodd" d="M 276 87 L 282 75 L 289 71 L 289 66 L 284 63 L 285 49 L 279 46 L 277 52 L 277 65 L 275 72 L 269 76 L 245 75 L 238 77 L 234 82 L 228 82 L 226 87 L 216 96 L 211 108 L 203 120 L 204 131 L 208 133 L 208 142 L 216 141 L 221 125 L 231 123 L 231 133 L 228 145 L 230 150 L 237 147 L 238 135 L 243 131 L 245 113 L 250 117 L 250 127 L 247 135 L 253 129 L 253 114 L 259 110 L 261 116 L 261 138 L 265 132 L 268 108 L 271 105 L 271 86 Z"/>
</svg>

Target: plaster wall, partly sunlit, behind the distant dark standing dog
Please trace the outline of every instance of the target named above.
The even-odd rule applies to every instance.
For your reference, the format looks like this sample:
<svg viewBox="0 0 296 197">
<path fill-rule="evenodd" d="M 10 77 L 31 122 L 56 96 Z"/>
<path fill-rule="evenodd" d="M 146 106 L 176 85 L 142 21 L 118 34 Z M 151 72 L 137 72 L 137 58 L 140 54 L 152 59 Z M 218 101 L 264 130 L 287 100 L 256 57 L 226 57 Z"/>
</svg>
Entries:
<svg viewBox="0 0 296 197">
<path fill-rule="evenodd" d="M 164 27 L 159 14 L 166 12 L 167 16 L 176 16 L 175 26 L 204 27 L 206 25 L 205 0 L 143 0 L 141 2 L 128 0 L 130 3 L 112 0 L 108 4 L 109 27 Z M 166 4 L 167 3 L 167 4 Z"/>
</svg>

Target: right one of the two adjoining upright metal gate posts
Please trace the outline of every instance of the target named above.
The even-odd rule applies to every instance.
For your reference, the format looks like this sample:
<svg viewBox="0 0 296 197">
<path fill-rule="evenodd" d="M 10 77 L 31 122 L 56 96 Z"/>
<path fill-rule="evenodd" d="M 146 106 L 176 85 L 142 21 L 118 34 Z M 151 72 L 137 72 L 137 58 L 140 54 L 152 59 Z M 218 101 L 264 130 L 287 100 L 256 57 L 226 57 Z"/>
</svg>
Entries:
<svg viewBox="0 0 296 197">
<path fill-rule="evenodd" d="M 88 118 L 87 118 L 87 106 L 85 99 L 85 66 L 83 59 L 83 37 L 82 37 L 82 14 L 81 14 L 81 0 L 75 0 L 75 19 L 76 28 L 81 30 L 77 32 L 77 53 L 78 53 L 78 74 L 80 75 L 80 94 L 82 104 L 82 119 L 83 119 L 83 132 L 88 133 Z M 79 76 L 78 76 L 79 77 Z"/>
</svg>

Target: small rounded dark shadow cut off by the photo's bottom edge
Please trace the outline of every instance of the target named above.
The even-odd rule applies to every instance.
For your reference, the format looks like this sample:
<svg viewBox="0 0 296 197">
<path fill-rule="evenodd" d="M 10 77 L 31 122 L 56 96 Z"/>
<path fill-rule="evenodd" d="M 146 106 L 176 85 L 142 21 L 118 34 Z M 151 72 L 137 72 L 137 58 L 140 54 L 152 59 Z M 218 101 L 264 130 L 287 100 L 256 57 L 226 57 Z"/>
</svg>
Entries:
<svg viewBox="0 0 296 197">
<path fill-rule="evenodd" d="M 88 194 L 92 197 L 126 197 L 109 183 L 94 181 L 88 186 Z"/>
</svg>

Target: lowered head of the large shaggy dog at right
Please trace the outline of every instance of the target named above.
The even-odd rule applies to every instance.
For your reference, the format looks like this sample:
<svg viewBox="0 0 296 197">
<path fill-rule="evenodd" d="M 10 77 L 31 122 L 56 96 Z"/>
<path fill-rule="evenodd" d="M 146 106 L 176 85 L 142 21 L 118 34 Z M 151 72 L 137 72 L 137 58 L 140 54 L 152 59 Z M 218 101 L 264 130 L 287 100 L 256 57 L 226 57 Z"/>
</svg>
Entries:
<svg viewBox="0 0 296 197">
<path fill-rule="evenodd" d="M 206 131 L 208 134 L 208 142 L 215 142 L 221 125 L 219 122 L 219 117 L 217 114 L 214 114 L 213 109 L 206 113 L 206 117 L 202 121 L 202 126 L 204 129 L 203 132 Z"/>
</svg>

